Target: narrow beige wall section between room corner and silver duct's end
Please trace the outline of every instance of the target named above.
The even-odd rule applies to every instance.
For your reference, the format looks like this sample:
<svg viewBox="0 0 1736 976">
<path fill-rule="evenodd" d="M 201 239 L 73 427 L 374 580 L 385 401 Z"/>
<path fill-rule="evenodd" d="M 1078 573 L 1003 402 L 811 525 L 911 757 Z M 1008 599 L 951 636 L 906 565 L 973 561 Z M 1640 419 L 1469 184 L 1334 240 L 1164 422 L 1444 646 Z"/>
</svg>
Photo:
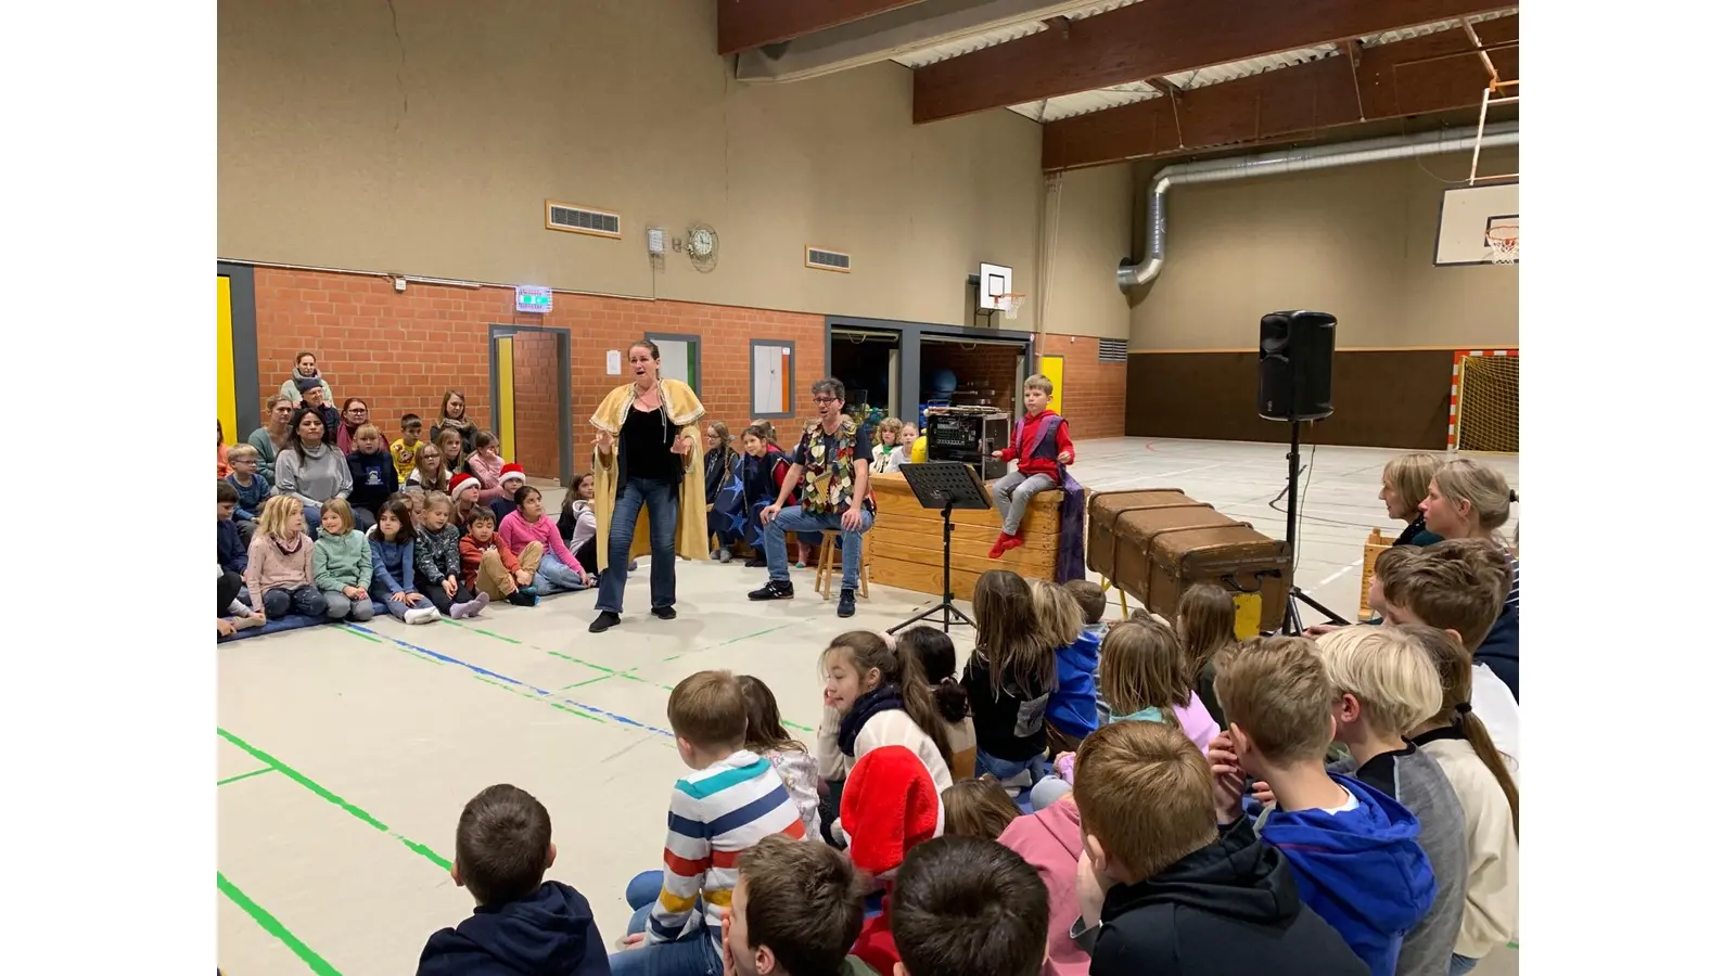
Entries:
<svg viewBox="0 0 1736 976">
<path fill-rule="evenodd" d="M 1064 174 L 1061 238 L 1049 283 L 1049 332 L 1127 339 L 1128 299 L 1115 287 L 1115 267 L 1128 255 L 1134 221 L 1134 167 L 1095 167 Z"/>
</svg>

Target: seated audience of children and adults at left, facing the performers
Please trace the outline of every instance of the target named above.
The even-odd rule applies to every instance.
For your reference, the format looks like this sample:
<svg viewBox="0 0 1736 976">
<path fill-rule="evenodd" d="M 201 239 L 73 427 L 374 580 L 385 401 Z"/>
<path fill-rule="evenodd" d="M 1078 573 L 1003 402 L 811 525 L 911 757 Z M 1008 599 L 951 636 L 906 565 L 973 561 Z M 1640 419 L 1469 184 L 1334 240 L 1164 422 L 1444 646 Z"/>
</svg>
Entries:
<svg viewBox="0 0 1736 976">
<path fill-rule="evenodd" d="M 321 410 L 323 380 L 297 384 L 304 401 L 292 417 Z M 498 438 L 464 419 L 457 392 L 444 398 L 434 443 L 422 441 L 415 413 L 399 419 L 401 436 L 387 445 L 361 399 L 345 401 L 342 415 L 323 410 L 330 450 L 342 441 L 347 452 L 345 476 L 326 478 L 325 498 L 306 493 L 299 424 L 285 424 L 292 441 L 276 452 L 276 478 L 259 471 L 260 443 L 278 448 L 269 429 L 226 446 L 219 424 L 219 637 L 290 615 L 365 622 L 380 608 L 429 623 L 474 617 L 490 601 L 536 606 L 595 585 L 589 474 L 573 481 L 559 514 L 547 512 L 524 469 L 500 457 Z"/>
</svg>

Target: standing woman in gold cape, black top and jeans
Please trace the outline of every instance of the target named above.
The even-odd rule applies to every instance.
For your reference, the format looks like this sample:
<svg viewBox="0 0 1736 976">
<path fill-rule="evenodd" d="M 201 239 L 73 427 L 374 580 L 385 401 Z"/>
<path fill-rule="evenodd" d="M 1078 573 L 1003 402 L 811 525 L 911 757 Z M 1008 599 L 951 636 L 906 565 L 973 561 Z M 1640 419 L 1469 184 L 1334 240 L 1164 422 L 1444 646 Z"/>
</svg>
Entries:
<svg viewBox="0 0 1736 976">
<path fill-rule="evenodd" d="M 608 547 L 597 547 L 592 634 L 621 622 L 634 552 L 651 552 L 651 613 L 660 620 L 675 618 L 675 552 L 705 559 L 705 464 L 694 450 L 705 406 L 693 387 L 660 375 L 656 342 L 634 342 L 627 365 L 634 382 L 615 387 L 590 417 L 597 528 L 609 533 Z"/>
</svg>

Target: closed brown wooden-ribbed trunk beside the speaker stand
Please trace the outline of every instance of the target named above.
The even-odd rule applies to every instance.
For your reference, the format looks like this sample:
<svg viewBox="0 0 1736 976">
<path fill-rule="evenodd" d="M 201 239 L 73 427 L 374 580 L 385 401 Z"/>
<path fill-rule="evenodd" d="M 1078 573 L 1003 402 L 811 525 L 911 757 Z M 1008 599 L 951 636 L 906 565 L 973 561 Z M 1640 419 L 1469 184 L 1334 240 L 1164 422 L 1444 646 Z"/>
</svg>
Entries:
<svg viewBox="0 0 1736 976">
<path fill-rule="evenodd" d="M 1260 630 L 1278 630 L 1290 597 L 1290 547 L 1175 488 L 1090 497 L 1085 564 L 1174 617 L 1182 590 L 1215 584 L 1260 594 Z"/>
</svg>

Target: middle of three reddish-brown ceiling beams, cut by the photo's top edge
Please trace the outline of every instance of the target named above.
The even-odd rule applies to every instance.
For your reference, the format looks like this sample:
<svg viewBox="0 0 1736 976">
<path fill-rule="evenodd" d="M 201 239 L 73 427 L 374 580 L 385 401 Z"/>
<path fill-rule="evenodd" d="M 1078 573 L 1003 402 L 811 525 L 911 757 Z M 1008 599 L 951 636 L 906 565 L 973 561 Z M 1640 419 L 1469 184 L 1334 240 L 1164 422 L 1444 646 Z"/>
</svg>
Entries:
<svg viewBox="0 0 1736 976">
<path fill-rule="evenodd" d="M 720 0 L 727 2 L 727 0 Z M 918 68 L 911 118 L 1108 89 L 1318 43 L 1517 7 L 1517 0 L 1144 0 Z"/>
</svg>

